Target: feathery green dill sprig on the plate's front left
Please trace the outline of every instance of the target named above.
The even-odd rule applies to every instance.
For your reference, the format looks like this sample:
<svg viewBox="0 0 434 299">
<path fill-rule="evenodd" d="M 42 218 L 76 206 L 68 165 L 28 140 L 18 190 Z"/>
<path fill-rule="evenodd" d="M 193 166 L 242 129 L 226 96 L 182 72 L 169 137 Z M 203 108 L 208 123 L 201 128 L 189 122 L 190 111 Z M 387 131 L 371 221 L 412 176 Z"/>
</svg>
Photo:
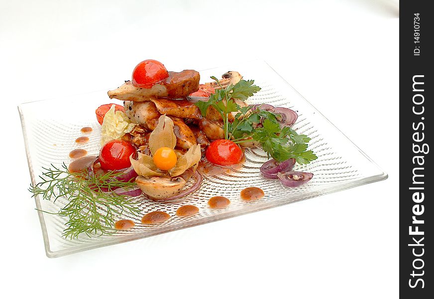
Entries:
<svg viewBox="0 0 434 299">
<path fill-rule="evenodd" d="M 138 203 L 113 191 L 115 188 L 131 189 L 135 186 L 134 182 L 118 180 L 119 173 L 71 173 L 65 163 L 61 167 L 51 164 L 51 167 L 43 168 L 44 172 L 39 176 L 42 181 L 30 186 L 29 191 L 33 197 L 39 195 L 44 200 L 56 201 L 61 197 L 68 200 L 55 213 L 68 218 L 64 237 L 73 239 L 81 233 L 88 236 L 112 234 L 115 217 L 123 212 L 138 215 Z"/>
</svg>

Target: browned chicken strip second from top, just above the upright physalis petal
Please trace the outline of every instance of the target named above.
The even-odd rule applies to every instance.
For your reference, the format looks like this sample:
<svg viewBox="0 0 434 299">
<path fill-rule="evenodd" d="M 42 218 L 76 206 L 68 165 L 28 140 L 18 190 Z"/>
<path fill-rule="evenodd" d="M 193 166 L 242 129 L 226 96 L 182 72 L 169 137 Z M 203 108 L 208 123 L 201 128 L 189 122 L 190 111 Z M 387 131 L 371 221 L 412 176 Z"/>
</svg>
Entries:
<svg viewBox="0 0 434 299">
<path fill-rule="evenodd" d="M 158 112 L 166 114 L 167 116 L 174 116 L 179 118 L 188 118 L 199 120 L 201 119 L 201 111 L 199 107 L 188 100 L 172 100 L 167 98 L 150 99 L 157 107 Z"/>
</svg>

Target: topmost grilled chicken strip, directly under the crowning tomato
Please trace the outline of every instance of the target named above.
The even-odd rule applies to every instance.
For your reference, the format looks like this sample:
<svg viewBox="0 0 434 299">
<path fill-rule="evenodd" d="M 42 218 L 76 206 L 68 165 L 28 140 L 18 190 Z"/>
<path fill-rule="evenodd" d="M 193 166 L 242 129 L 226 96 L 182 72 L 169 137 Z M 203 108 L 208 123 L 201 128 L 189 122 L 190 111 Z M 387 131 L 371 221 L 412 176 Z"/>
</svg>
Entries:
<svg viewBox="0 0 434 299">
<path fill-rule="evenodd" d="M 169 77 L 166 80 L 154 84 L 151 88 L 135 87 L 131 81 L 125 81 L 117 89 L 108 91 L 108 97 L 133 102 L 149 101 L 149 98 L 159 97 L 185 98 L 198 91 L 200 78 L 201 76 L 197 71 L 183 70 L 179 73 L 169 72 Z"/>
</svg>

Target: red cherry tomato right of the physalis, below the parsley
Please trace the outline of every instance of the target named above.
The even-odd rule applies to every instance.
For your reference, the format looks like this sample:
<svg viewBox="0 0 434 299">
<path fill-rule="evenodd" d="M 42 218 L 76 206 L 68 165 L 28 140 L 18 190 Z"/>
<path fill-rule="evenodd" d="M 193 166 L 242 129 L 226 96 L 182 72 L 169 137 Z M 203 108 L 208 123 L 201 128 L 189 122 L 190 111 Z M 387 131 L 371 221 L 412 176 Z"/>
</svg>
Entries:
<svg viewBox="0 0 434 299">
<path fill-rule="evenodd" d="M 225 139 L 213 141 L 205 153 L 211 163 L 220 166 L 238 164 L 242 155 L 242 150 L 235 143 Z"/>
</svg>

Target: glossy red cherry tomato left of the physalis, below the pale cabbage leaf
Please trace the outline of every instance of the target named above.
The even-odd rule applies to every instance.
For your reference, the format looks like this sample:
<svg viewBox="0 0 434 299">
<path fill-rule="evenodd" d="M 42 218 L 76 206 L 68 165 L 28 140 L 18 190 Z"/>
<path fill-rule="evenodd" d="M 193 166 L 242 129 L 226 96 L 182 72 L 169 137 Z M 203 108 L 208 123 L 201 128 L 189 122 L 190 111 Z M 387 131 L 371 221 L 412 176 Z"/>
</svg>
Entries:
<svg viewBox="0 0 434 299">
<path fill-rule="evenodd" d="M 104 170 L 120 170 L 131 166 L 129 156 L 135 149 L 123 140 L 110 140 L 100 151 L 101 168 Z"/>
</svg>

